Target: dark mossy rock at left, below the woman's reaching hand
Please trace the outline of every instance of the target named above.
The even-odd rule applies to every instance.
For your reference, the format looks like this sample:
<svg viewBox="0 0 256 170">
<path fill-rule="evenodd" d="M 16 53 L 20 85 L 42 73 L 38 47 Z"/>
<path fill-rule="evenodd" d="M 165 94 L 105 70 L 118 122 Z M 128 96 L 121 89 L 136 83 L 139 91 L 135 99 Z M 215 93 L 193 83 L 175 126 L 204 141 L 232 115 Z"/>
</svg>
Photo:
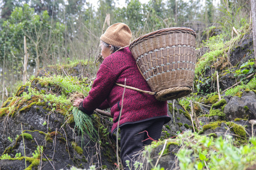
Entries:
<svg viewBox="0 0 256 170">
<path fill-rule="evenodd" d="M 43 88 L 42 82 L 33 82 L 40 92 L 46 89 L 56 93 L 60 88 L 56 85 Z M 21 87 L 19 91 L 26 93 L 25 89 Z M 100 137 L 81 136 L 74 127 L 71 105 L 50 102 L 42 96 L 32 95 L 29 99 L 14 96 L 0 109 L 0 155 L 9 156 L 0 160 L 0 170 L 25 170 L 26 164 L 32 170 L 69 170 L 72 166 L 91 165 L 114 169 L 116 144 L 104 127 L 110 126 L 109 122 L 95 116 L 91 120 Z"/>
</svg>

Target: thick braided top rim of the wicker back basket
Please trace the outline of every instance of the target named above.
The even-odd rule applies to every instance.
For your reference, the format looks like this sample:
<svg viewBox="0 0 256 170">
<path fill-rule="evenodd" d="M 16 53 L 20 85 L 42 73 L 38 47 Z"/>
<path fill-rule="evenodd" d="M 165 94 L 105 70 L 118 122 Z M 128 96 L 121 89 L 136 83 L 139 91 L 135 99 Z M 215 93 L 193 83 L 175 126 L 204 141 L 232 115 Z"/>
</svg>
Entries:
<svg viewBox="0 0 256 170">
<path fill-rule="evenodd" d="M 185 34 L 192 34 L 194 37 L 196 37 L 196 32 L 192 30 L 191 28 L 187 27 L 169 27 L 169 28 L 162 28 L 159 30 L 156 30 L 154 32 L 142 35 L 138 37 L 137 39 L 133 40 L 129 45 L 129 50 L 136 46 L 138 43 L 145 41 L 149 38 L 160 36 L 162 34 L 175 34 L 175 33 L 185 33 Z"/>
</svg>

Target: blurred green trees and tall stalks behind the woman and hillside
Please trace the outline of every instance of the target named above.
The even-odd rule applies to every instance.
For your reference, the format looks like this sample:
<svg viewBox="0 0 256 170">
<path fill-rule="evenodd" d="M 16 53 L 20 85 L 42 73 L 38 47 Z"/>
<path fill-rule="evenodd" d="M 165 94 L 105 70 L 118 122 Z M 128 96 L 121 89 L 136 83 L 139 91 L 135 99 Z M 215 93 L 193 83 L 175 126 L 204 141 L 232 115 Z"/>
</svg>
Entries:
<svg viewBox="0 0 256 170">
<path fill-rule="evenodd" d="M 110 25 L 126 23 L 133 39 L 164 27 L 186 26 L 197 32 L 197 46 L 217 32 L 222 41 L 231 30 L 250 23 L 250 0 L 2 0 L 0 11 L 0 101 L 12 96 L 21 84 L 24 39 L 29 53 L 27 75 L 37 76 L 47 65 L 75 60 L 96 61 L 100 36 Z"/>
</svg>

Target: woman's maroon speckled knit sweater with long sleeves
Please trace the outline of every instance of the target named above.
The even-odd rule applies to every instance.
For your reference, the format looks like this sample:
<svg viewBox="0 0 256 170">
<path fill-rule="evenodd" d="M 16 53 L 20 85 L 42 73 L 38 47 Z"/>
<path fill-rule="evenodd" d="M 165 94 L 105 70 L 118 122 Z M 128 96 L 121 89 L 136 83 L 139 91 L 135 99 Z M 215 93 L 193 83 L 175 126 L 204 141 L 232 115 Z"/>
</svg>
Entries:
<svg viewBox="0 0 256 170">
<path fill-rule="evenodd" d="M 164 118 L 165 123 L 170 121 L 167 116 L 167 102 L 159 102 L 154 95 L 125 89 L 115 83 L 136 87 L 141 90 L 151 91 L 146 80 L 141 76 L 135 59 L 128 47 L 116 51 L 102 62 L 92 85 L 89 95 L 80 103 L 79 109 L 92 114 L 96 108 L 107 109 L 111 107 L 113 117 L 112 133 L 118 125 L 121 106 L 119 127 L 128 123 L 137 123 L 149 119 Z"/>
</svg>

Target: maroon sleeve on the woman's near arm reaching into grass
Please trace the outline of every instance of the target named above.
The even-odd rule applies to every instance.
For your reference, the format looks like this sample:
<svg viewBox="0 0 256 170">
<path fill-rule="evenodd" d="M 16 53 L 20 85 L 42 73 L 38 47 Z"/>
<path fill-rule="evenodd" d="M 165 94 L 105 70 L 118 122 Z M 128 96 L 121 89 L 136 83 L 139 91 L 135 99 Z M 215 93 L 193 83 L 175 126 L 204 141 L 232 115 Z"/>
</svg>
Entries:
<svg viewBox="0 0 256 170">
<path fill-rule="evenodd" d="M 101 103 L 109 96 L 116 79 L 117 75 L 102 63 L 89 95 L 83 100 L 83 109 L 92 111 L 101 106 Z"/>
</svg>

